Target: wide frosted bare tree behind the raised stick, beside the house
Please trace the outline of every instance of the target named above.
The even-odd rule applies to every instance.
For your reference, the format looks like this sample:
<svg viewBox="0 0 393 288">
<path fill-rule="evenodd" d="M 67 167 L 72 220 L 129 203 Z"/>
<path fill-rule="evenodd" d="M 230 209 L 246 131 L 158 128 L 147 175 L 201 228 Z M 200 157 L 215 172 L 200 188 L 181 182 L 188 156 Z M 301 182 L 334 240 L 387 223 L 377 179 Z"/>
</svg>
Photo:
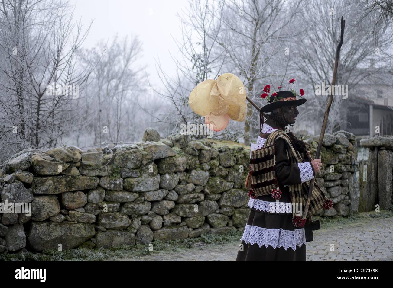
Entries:
<svg viewBox="0 0 393 288">
<path fill-rule="evenodd" d="M 294 29 L 301 31 L 302 36 L 294 38 L 291 66 L 301 73 L 302 81 L 299 84 L 307 86 L 306 91 L 312 91 L 306 95 L 309 99 L 308 123 L 313 122 L 312 117 L 316 113 L 323 114 L 325 111 L 327 96 L 315 96 L 314 90 L 322 82 L 330 84 L 335 47 L 340 38 L 341 15 L 347 20 L 347 32 L 340 53 L 336 84 L 349 85 L 349 93 L 356 93 L 356 84 L 376 73 L 376 69 L 367 69 L 370 58 L 375 60 L 376 65 L 384 66 L 384 58 L 376 51 L 388 51 L 393 39 L 391 31 L 378 24 L 377 13 L 366 13 L 364 7 L 348 0 L 310 0 L 304 7 L 304 15 L 294 21 Z M 344 100 L 350 98 L 334 98 L 329 114 L 328 133 L 343 123 L 340 109 Z M 315 132 L 319 127 L 314 127 Z"/>
</svg>

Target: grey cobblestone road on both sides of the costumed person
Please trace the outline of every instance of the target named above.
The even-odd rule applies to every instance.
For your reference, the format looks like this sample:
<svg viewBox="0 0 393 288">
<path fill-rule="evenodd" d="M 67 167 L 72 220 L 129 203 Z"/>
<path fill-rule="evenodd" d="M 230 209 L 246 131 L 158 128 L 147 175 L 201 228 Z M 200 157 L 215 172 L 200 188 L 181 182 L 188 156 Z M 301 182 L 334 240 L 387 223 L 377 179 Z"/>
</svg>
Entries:
<svg viewBox="0 0 393 288">
<path fill-rule="evenodd" d="M 120 261 L 235 261 L 238 242 L 161 252 Z M 334 249 L 334 250 L 333 250 Z M 331 251 L 332 250 L 332 251 Z M 358 224 L 314 231 L 307 242 L 307 261 L 392 261 L 393 218 L 374 218 Z"/>
</svg>

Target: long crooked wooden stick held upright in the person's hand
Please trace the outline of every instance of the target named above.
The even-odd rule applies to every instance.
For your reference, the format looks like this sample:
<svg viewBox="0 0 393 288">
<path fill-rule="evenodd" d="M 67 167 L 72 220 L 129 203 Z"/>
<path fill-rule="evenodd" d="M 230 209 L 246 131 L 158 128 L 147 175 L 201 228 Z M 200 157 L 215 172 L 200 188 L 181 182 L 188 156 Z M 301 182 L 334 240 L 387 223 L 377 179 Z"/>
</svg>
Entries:
<svg viewBox="0 0 393 288">
<path fill-rule="evenodd" d="M 340 49 L 341 49 L 341 46 L 342 46 L 343 40 L 344 40 L 344 29 L 345 29 L 345 20 L 344 20 L 344 17 L 341 16 L 341 39 L 340 39 L 340 43 L 338 43 L 337 49 L 336 49 L 336 58 L 334 60 L 334 71 L 333 71 L 332 85 L 336 84 L 338 58 L 340 57 Z M 321 155 L 323 137 L 325 136 L 327 120 L 329 118 L 329 112 L 330 112 L 330 107 L 332 106 L 332 102 L 333 102 L 333 89 L 331 89 L 331 93 L 329 95 L 329 100 L 327 101 L 326 110 L 325 110 L 325 117 L 323 118 L 321 135 L 320 135 L 320 139 L 318 142 L 317 154 L 315 156 L 315 159 L 319 159 L 319 157 Z M 306 206 L 304 208 L 304 212 L 302 213 L 303 219 L 307 218 L 307 213 L 309 212 L 312 189 L 314 188 L 314 182 L 315 182 L 315 177 L 310 182 L 310 188 L 309 188 L 309 193 L 307 195 Z"/>
</svg>

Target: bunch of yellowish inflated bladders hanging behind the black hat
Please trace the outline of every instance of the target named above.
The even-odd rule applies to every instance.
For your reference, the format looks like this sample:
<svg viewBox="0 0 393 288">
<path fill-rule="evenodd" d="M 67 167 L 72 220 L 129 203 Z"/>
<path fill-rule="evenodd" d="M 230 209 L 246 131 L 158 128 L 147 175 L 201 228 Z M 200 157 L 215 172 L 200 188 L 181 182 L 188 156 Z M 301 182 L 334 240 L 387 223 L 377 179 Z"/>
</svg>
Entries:
<svg viewBox="0 0 393 288">
<path fill-rule="evenodd" d="M 242 81 L 231 73 L 222 74 L 217 81 L 209 79 L 198 84 L 191 91 L 188 103 L 196 114 L 209 115 L 208 119 L 220 123 L 220 127 L 225 123 L 226 117 L 239 122 L 246 118 L 246 88 Z M 226 117 L 213 117 L 224 115 Z"/>
</svg>

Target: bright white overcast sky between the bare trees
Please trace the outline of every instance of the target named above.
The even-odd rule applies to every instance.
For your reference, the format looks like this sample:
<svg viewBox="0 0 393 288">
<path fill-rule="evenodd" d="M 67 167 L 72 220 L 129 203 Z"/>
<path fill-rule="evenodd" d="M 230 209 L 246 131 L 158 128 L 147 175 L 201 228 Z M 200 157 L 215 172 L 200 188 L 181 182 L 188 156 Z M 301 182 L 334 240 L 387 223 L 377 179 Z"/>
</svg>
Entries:
<svg viewBox="0 0 393 288">
<path fill-rule="evenodd" d="M 153 85 L 159 85 L 155 76 L 154 58 L 159 57 L 164 71 L 174 74 L 175 65 L 169 55 L 176 55 L 174 38 L 181 36 L 180 21 L 176 13 L 188 6 L 187 0 L 70 0 L 75 4 L 75 20 L 82 18 L 88 26 L 94 19 L 84 47 L 94 47 L 100 39 L 105 41 L 119 36 L 138 35 L 143 47 L 141 64 L 147 64 L 147 73 Z M 171 72 L 173 71 L 173 72 Z"/>
</svg>

